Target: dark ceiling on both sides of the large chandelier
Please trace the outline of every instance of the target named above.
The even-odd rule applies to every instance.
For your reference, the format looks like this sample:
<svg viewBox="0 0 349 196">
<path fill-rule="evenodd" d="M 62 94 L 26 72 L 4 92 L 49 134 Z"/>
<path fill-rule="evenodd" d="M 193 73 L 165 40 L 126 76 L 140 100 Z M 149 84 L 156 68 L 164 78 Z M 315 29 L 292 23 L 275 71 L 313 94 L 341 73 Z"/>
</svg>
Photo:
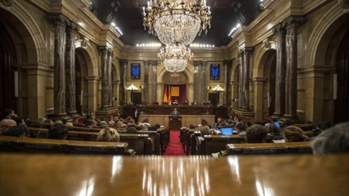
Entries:
<svg viewBox="0 0 349 196">
<path fill-rule="evenodd" d="M 90 10 L 104 23 L 114 22 L 124 33 L 121 41 L 128 45 L 159 42 L 143 27 L 142 7 L 147 0 L 91 0 Z M 260 0 L 207 0 L 211 6 L 211 29 L 194 43 L 227 45 L 231 41 L 230 30 L 237 24 L 248 25 L 260 13 Z"/>
</svg>

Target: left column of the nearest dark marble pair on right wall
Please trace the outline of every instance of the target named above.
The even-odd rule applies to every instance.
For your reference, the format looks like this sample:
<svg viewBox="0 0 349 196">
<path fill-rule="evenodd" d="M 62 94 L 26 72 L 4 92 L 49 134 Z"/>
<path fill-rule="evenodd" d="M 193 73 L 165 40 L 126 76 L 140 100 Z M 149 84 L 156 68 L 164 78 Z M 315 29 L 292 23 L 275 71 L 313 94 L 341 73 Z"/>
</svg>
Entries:
<svg viewBox="0 0 349 196">
<path fill-rule="evenodd" d="M 276 35 L 276 84 L 275 112 L 271 118 L 278 120 L 285 113 L 286 37 L 284 25 L 277 24 L 273 32 Z"/>
</svg>

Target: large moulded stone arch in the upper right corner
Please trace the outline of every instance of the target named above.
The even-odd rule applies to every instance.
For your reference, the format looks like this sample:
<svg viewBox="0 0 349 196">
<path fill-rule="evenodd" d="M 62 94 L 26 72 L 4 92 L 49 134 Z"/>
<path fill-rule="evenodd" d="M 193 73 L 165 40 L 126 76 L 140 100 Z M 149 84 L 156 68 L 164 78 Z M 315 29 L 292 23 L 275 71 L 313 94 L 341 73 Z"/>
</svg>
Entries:
<svg viewBox="0 0 349 196">
<path fill-rule="evenodd" d="M 328 35 L 331 32 L 328 30 L 331 27 L 338 27 L 343 24 L 347 20 L 348 14 L 349 9 L 344 9 L 340 3 L 336 3 L 335 6 L 322 16 L 309 37 L 308 47 L 304 53 L 304 56 L 307 57 L 305 58 L 305 66 L 325 65 L 324 58 L 328 42 L 324 42 L 323 38 L 324 36 L 331 36 Z"/>
</svg>

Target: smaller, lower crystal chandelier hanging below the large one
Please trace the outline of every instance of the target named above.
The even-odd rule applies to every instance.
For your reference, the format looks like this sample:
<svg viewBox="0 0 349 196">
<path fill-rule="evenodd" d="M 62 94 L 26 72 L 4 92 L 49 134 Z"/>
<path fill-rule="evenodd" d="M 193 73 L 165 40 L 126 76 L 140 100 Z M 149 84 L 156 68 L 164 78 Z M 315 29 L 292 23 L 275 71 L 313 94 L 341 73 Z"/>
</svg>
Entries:
<svg viewBox="0 0 349 196">
<path fill-rule="evenodd" d="M 158 59 L 166 70 L 171 73 L 179 73 L 192 63 L 193 53 L 183 44 L 166 45 L 158 53 Z"/>
</svg>

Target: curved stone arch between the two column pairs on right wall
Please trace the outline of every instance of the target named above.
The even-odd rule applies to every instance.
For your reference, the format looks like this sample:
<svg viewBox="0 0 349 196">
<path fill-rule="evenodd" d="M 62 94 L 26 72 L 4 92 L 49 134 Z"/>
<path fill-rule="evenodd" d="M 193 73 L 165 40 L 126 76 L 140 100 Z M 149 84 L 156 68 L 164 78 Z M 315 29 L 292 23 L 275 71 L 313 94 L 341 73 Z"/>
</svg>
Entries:
<svg viewBox="0 0 349 196">
<path fill-rule="evenodd" d="M 265 45 L 267 45 L 268 47 L 266 47 Z M 276 51 L 276 42 L 274 41 L 268 41 L 261 46 L 256 55 L 255 63 L 253 63 L 253 65 L 255 65 L 255 67 L 253 68 L 253 77 L 263 77 L 266 65 L 265 61 L 268 59 L 270 52 L 273 51 Z"/>
</svg>

